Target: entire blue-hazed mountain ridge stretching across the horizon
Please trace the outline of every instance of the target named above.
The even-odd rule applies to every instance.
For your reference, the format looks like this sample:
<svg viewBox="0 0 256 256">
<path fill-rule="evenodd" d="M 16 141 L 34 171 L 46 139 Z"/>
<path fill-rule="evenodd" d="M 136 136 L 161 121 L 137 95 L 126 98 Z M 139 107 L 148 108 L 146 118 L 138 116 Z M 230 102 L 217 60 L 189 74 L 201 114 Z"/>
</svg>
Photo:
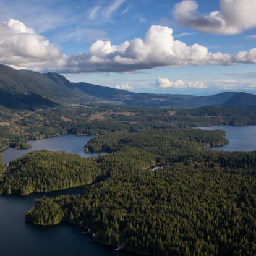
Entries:
<svg viewBox="0 0 256 256">
<path fill-rule="evenodd" d="M 256 106 L 256 95 L 237 92 L 210 96 L 134 93 L 91 83 L 72 83 L 58 73 L 15 70 L 0 64 L 0 105 L 6 108 L 48 108 L 62 103 L 103 102 L 151 108 Z"/>
</svg>

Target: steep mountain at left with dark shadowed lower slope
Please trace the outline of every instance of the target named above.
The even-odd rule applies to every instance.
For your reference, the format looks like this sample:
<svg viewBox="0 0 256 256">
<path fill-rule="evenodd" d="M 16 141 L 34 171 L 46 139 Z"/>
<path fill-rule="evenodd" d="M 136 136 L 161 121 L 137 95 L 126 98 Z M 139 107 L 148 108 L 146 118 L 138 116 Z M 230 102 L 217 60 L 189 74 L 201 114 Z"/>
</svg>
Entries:
<svg viewBox="0 0 256 256">
<path fill-rule="evenodd" d="M 61 75 L 15 70 L 2 64 L 0 64 L 0 92 L 0 104 L 14 109 L 51 107 L 61 101 L 86 99 L 85 95 L 81 97 L 72 83 Z"/>
</svg>

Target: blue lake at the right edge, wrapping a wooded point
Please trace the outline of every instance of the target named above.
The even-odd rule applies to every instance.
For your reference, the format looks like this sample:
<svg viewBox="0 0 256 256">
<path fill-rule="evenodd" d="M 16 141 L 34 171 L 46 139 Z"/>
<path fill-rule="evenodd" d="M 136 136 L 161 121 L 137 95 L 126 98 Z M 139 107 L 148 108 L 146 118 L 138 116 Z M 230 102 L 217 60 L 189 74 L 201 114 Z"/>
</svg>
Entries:
<svg viewBox="0 0 256 256">
<path fill-rule="evenodd" d="M 223 147 L 212 147 L 210 150 L 254 151 L 256 150 L 256 126 L 211 126 L 200 127 L 203 130 L 221 129 L 226 132 L 229 143 Z"/>
</svg>

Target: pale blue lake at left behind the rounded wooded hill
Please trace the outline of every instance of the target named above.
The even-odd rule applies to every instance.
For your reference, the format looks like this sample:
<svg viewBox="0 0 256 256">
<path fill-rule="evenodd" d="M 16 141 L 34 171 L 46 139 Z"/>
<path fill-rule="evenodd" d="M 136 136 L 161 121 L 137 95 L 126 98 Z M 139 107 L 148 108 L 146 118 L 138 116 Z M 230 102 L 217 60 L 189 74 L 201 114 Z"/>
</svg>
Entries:
<svg viewBox="0 0 256 256">
<path fill-rule="evenodd" d="M 4 163 L 9 163 L 16 158 L 19 158 L 33 150 L 53 150 L 53 151 L 66 151 L 69 153 L 76 153 L 83 157 L 96 156 L 98 153 L 85 153 L 83 150 L 84 145 L 92 139 L 92 136 L 77 137 L 74 134 L 66 134 L 58 137 L 45 138 L 41 140 L 28 140 L 32 148 L 25 150 L 15 150 L 8 148 L 1 153 Z"/>
</svg>

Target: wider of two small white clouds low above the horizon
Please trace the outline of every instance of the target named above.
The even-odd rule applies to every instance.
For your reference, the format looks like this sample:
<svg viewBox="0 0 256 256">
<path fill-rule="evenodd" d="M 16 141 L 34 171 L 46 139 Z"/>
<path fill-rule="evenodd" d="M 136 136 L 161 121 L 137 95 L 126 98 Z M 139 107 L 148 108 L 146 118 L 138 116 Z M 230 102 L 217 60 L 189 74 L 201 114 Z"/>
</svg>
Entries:
<svg viewBox="0 0 256 256">
<path fill-rule="evenodd" d="M 158 88 L 172 88 L 172 89 L 206 89 L 207 86 L 199 81 L 187 82 L 181 79 L 178 80 L 169 80 L 168 78 L 158 77 L 155 81 L 155 86 Z"/>
</svg>

